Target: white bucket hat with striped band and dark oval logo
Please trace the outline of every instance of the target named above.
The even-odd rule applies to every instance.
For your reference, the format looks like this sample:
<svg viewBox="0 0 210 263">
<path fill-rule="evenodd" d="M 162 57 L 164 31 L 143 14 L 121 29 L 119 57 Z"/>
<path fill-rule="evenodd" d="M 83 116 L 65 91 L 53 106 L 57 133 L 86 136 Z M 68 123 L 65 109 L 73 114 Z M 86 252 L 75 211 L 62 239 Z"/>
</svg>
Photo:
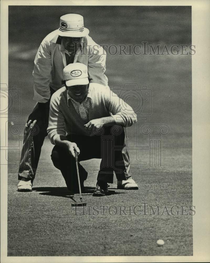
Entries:
<svg viewBox="0 0 210 263">
<path fill-rule="evenodd" d="M 85 37 L 89 30 L 84 27 L 83 16 L 79 14 L 66 14 L 60 17 L 59 36 Z"/>
</svg>

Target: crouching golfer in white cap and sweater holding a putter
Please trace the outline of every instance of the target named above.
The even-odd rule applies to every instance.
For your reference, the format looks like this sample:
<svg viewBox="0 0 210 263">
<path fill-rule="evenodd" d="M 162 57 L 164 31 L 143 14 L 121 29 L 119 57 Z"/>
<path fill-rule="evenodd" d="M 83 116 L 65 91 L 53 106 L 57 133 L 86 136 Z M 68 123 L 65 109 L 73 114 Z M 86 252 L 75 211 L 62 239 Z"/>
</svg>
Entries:
<svg viewBox="0 0 210 263">
<path fill-rule="evenodd" d="M 108 87 L 89 84 L 86 65 L 69 64 L 63 72 L 65 87 L 52 95 L 47 131 L 55 144 L 51 159 L 67 188 L 78 193 L 76 151 L 83 192 L 87 172 L 79 162 L 93 158 L 102 159 L 93 196 L 108 193 L 107 183 L 113 183 L 113 172 L 118 189 L 138 189 L 131 178 L 124 132 L 124 127 L 137 121 L 133 109 Z"/>
</svg>

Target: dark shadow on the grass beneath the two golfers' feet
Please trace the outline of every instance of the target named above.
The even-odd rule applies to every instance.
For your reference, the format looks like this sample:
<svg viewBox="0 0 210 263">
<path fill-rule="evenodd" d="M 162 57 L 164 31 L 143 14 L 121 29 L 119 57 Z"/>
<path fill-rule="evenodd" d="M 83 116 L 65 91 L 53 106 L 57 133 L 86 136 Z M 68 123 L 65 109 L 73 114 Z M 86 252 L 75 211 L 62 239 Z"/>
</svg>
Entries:
<svg viewBox="0 0 210 263">
<path fill-rule="evenodd" d="M 85 192 L 82 195 L 92 195 L 95 187 L 85 187 Z M 40 195 L 50 195 L 50 196 L 61 196 L 65 198 L 73 199 L 73 194 L 71 191 L 67 189 L 67 187 L 33 187 L 33 191 L 43 192 Z M 76 193 L 77 195 L 78 193 Z M 109 190 L 107 195 L 114 195 L 114 194 L 124 194 L 124 192 L 115 192 Z M 74 200 L 75 201 L 75 200 Z"/>
</svg>

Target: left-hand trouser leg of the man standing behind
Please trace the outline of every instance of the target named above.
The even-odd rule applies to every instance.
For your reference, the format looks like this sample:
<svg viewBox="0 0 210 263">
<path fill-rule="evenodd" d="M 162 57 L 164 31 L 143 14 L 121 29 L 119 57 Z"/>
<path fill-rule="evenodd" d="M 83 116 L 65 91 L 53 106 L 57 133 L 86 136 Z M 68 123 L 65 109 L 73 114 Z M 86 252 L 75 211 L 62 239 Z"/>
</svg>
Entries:
<svg viewBox="0 0 210 263">
<path fill-rule="evenodd" d="M 55 90 L 50 88 L 50 98 Z M 47 127 L 49 119 L 50 100 L 46 103 L 37 103 L 33 109 L 33 112 L 29 115 L 28 121 L 33 115 L 34 119 L 37 118 L 37 122 L 34 128 L 25 127 L 23 148 L 20 157 L 20 165 L 18 171 L 18 180 L 22 177 L 28 178 L 33 182 L 36 169 L 41 154 L 41 147 L 44 142 L 44 138 L 47 136 Z"/>
</svg>

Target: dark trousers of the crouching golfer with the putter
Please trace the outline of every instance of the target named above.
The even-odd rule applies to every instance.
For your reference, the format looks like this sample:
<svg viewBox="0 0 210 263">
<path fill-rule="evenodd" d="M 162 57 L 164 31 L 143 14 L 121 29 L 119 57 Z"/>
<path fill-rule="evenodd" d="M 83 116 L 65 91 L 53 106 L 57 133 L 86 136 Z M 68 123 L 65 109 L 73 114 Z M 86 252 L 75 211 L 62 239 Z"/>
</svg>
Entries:
<svg viewBox="0 0 210 263">
<path fill-rule="evenodd" d="M 113 172 L 117 180 L 126 180 L 130 175 L 130 162 L 125 148 L 125 132 L 119 125 L 106 125 L 99 129 L 96 136 L 84 136 L 71 134 L 67 139 L 77 144 L 80 149 L 78 155 L 78 169 L 80 180 L 87 179 L 87 172 L 79 163 L 80 161 L 99 158 L 101 160 L 98 172 L 98 181 L 113 183 Z M 78 187 L 75 158 L 66 150 L 55 146 L 52 150 L 51 159 L 54 166 L 59 169 L 65 179 L 67 188 Z"/>
</svg>

